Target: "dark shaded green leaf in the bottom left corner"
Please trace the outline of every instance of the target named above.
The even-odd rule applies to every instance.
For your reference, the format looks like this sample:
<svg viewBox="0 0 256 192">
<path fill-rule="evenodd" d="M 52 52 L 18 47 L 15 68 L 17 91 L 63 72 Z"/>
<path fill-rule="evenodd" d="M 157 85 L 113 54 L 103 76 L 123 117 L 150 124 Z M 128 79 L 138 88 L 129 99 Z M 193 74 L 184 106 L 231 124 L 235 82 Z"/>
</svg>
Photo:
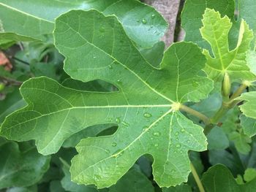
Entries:
<svg viewBox="0 0 256 192">
<path fill-rule="evenodd" d="M 20 150 L 15 142 L 2 143 L 0 154 L 0 189 L 34 185 L 50 164 L 50 156 L 37 153 L 36 147 Z"/>
</svg>

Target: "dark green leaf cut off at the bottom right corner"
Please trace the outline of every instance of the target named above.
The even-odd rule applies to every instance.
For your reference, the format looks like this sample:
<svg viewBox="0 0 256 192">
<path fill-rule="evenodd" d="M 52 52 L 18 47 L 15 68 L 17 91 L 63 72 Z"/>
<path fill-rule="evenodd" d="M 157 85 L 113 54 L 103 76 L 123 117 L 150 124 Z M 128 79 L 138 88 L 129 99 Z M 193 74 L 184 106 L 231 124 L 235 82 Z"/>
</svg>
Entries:
<svg viewBox="0 0 256 192">
<path fill-rule="evenodd" d="M 208 192 L 255 191 L 256 187 L 256 180 L 252 180 L 245 185 L 238 185 L 230 170 L 221 164 L 211 166 L 211 168 L 203 174 L 202 183 Z"/>
</svg>

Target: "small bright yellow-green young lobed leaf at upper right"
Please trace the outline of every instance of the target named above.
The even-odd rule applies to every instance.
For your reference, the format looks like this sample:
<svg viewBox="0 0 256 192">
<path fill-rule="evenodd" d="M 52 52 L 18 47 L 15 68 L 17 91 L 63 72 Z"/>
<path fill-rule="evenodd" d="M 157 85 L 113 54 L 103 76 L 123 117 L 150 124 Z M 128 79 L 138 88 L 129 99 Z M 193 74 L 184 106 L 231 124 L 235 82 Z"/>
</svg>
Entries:
<svg viewBox="0 0 256 192">
<path fill-rule="evenodd" d="M 230 50 L 228 33 L 232 23 L 225 16 L 220 17 L 214 9 L 206 9 L 203 15 L 203 28 L 200 28 L 203 39 L 211 45 L 214 56 L 204 50 L 207 63 L 205 71 L 214 81 L 222 81 L 224 74 L 229 74 L 232 81 L 256 80 L 256 77 L 246 64 L 246 52 L 252 41 L 252 31 L 244 20 L 241 21 L 238 43 L 234 50 Z"/>
</svg>

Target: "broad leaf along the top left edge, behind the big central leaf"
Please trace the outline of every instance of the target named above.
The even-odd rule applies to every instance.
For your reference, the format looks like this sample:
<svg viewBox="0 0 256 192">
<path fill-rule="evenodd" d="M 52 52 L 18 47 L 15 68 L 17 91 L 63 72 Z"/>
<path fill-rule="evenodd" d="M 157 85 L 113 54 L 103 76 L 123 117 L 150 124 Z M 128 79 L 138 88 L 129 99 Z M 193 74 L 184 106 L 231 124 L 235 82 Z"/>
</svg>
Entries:
<svg viewBox="0 0 256 192">
<path fill-rule="evenodd" d="M 55 18 L 69 9 L 97 9 L 105 15 L 116 15 L 128 36 L 141 47 L 154 45 L 167 29 L 162 15 L 137 0 L 0 0 L 0 19 L 4 31 L 15 37 L 13 40 L 27 37 L 44 41 L 53 32 Z"/>
</svg>

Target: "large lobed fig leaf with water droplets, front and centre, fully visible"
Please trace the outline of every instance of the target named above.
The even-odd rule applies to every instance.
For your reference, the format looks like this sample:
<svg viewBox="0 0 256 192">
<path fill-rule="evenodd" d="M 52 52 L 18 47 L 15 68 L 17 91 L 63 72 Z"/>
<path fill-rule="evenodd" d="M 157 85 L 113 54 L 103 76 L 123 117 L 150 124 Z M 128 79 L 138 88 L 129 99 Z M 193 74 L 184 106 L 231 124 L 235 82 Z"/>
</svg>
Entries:
<svg viewBox="0 0 256 192">
<path fill-rule="evenodd" d="M 144 154 L 154 158 L 154 180 L 177 185 L 190 172 L 188 150 L 206 150 L 203 128 L 178 111 L 206 98 L 213 82 L 201 77 L 206 59 L 189 42 L 173 44 L 160 68 L 148 64 L 115 16 L 74 10 L 56 20 L 55 44 L 75 80 L 105 80 L 118 91 L 65 88 L 47 77 L 20 88 L 28 106 L 1 126 L 9 139 L 35 139 L 39 153 L 56 153 L 72 134 L 97 124 L 118 125 L 115 134 L 83 139 L 72 160 L 72 180 L 98 188 L 116 183 Z M 185 51 L 184 51 L 185 50 Z"/>
</svg>

